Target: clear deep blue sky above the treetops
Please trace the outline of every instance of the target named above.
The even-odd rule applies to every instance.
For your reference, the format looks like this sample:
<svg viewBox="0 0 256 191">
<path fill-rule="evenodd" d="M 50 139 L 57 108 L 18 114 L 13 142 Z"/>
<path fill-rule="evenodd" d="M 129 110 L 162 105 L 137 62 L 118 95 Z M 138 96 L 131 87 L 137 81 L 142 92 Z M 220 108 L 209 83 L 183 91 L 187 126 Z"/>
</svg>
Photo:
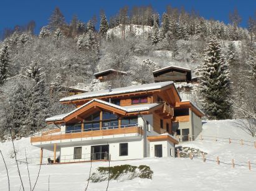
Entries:
<svg viewBox="0 0 256 191">
<path fill-rule="evenodd" d="M 98 16 L 100 9 L 104 9 L 109 17 L 126 5 L 133 7 L 149 4 L 160 14 L 168 4 L 171 4 L 173 7 L 183 6 L 186 11 L 195 9 L 206 19 L 223 20 L 225 23 L 229 22 L 229 12 L 236 7 L 242 17 L 243 27 L 247 26 L 249 16 L 253 16 L 256 11 L 256 0 L 1 0 L 0 31 L 35 20 L 36 33 L 38 33 L 40 27 L 47 25 L 50 14 L 56 6 L 60 7 L 67 22 L 70 22 L 73 14 L 87 22 L 93 15 Z"/>
</svg>

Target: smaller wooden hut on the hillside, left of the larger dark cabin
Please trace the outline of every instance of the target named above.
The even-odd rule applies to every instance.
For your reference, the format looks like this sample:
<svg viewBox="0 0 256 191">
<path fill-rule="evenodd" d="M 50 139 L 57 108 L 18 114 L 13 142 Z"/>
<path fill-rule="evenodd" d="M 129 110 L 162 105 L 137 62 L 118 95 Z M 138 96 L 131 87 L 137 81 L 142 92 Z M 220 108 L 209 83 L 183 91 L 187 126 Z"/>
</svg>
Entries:
<svg viewBox="0 0 256 191">
<path fill-rule="evenodd" d="M 115 69 L 107 69 L 105 71 L 101 71 L 99 73 L 93 74 L 96 79 L 99 79 L 100 82 L 109 81 L 111 79 L 116 79 L 118 76 L 126 76 L 127 73 L 124 71 L 118 71 Z"/>
</svg>

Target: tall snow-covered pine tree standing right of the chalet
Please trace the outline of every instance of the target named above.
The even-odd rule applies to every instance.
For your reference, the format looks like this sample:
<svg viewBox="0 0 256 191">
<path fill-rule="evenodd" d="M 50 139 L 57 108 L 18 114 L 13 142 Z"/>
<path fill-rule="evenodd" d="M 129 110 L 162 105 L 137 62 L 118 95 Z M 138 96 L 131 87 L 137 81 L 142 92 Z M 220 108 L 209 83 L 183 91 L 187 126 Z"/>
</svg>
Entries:
<svg viewBox="0 0 256 191">
<path fill-rule="evenodd" d="M 200 69 L 199 91 L 204 112 L 209 119 L 225 119 L 232 116 L 229 68 L 216 38 L 207 43 L 204 64 Z"/>
</svg>

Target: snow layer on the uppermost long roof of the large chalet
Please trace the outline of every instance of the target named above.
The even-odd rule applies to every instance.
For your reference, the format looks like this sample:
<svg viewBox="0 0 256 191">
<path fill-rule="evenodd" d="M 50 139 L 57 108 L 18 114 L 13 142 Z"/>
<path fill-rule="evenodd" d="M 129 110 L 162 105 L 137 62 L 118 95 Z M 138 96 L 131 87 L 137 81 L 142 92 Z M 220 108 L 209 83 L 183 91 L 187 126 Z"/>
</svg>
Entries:
<svg viewBox="0 0 256 191">
<path fill-rule="evenodd" d="M 60 102 L 79 100 L 79 99 L 88 99 L 93 97 L 101 97 L 104 95 L 116 95 L 116 94 L 130 93 L 130 92 L 141 92 L 141 91 L 148 91 L 148 90 L 154 90 L 154 89 L 161 89 L 165 86 L 169 86 L 170 84 L 173 84 L 173 82 L 167 81 L 167 82 L 157 82 L 157 83 L 151 83 L 151 84 L 142 84 L 138 86 L 119 87 L 119 88 L 112 89 L 111 92 L 109 92 L 108 89 L 95 91 L 95 92 L 85 92 L 82 94 L 64 97 L 60 99 Z"/>
</svg>

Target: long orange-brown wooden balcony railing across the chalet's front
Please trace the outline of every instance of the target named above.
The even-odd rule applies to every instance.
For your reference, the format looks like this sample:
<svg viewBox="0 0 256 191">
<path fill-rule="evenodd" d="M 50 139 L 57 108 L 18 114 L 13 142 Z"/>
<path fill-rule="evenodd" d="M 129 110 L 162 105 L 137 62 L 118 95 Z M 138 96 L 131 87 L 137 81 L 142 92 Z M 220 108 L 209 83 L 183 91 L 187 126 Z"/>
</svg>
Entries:
<svg viewBox="0 0 256 191">
<path fill-rule="evenodd" d="M 116 135 L 128 136 L 128 134 L 135 133 L 136 136 L 143 135 L 143 129 L 138 124 L 130 124 L 130 125 L 121 125 L 120 128 L 118 126 L 113 127 L 102 127 L 102 130 L 95 128 L 81 130 L 72 130 L 72 131 L 60 131 L 57 133 L 50 133 L 48 135 L 43 135 L 42 133 L 39 136 L 31 137 L 31 143 L 42 143 L 45 141 L 60 141 L 62 140 L 72 140 L 72 139 L 80 139 L 81 141 L 86 138 L 99 137 L 102 138 L 115 138 Z M 107 136 L 107 137 L 105 137 Z M 118 136 L 120 137 L 120 136 Z"/>
</svg>

